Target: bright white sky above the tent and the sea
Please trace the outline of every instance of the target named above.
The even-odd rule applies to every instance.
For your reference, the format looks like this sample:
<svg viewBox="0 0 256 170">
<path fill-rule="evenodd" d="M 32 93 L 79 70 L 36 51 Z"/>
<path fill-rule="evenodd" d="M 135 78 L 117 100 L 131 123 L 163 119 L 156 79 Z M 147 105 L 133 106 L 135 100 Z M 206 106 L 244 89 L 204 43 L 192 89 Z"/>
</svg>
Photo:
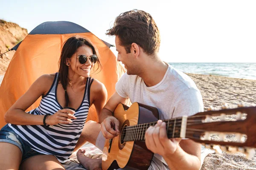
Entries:
<svg viewBox="0 0 256 170">
<path fill-rule="evenodd" d="M 114 45 L 106 30 L 132 9 L 157 23 L 163 61 L 256 62 L 256 0 L 0 0 L 0 19 L 28 32 L 46 21 L 70 21 Z"/>
</svg>

